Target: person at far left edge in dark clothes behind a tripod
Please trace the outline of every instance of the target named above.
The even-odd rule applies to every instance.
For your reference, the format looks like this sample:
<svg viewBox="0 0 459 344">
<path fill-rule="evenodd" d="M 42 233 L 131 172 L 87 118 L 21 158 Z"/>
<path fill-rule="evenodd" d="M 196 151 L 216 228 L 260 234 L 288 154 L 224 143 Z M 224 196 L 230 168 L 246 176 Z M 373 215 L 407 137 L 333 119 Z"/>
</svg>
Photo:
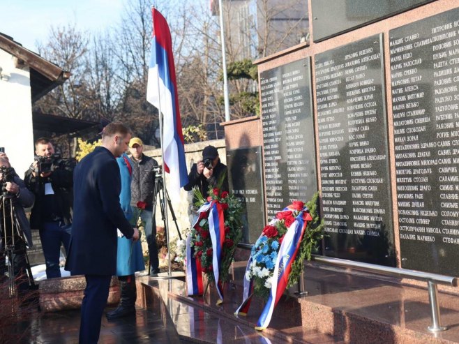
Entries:
<svg viewBox="0 0 459 344">
<path fill-rule="evenodd" d="M 13 248 L 13 260 L 11 261 L 14 262 L 17 291 L 23 294 L 29 290 L 26 248 L 32 247 L 32 235 L 24 207 L 31 207 L 35 197 L 33 197 L 33 193 L 27 190 L 24 181 L 20 179 L 15 170 L 10 166 L 8 158 L 4 154 L 0 156 L 0 185 L 0 281 L 6 278 L 5 244 L 13 244 L 14 236 L 15 246 Z M 17 228 L 14 225 L 14 221 L 12 221 L 10 212 L 11 204 L 13 205 L 13 216 L 17 219 L 17 224 L 20 228 Z M 6 243 L 4 242 L 5 234 Z M 11 257 L 9 257 L 9 259 L 11 259 Z"/>
</svg>

